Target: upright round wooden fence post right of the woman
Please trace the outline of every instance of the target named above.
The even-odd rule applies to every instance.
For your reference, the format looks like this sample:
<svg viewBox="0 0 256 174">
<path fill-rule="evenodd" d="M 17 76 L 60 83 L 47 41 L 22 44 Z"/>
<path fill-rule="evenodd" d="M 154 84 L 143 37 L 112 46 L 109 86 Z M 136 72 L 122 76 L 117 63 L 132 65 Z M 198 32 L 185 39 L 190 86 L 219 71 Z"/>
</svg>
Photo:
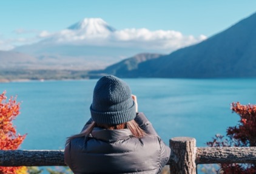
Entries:
<svg viewBox="0 0 256 174">
<path fill-rule="evenodd" d="M 195 138 L 175 137 L 170 139 L 170 149 L 172 150 L 170 161 L 171 174 L 195 174 L 197 165 L 195 155 L 197 147 Z"/>
</svg>

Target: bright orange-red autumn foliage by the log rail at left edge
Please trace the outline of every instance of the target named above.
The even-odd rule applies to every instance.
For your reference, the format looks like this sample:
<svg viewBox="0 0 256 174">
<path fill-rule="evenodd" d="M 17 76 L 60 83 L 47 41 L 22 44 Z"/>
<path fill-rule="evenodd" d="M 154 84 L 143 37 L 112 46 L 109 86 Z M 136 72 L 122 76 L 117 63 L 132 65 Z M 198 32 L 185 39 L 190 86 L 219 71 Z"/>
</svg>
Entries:
<svg viewBox="0 0 256 174">
<path fill-rule="evenodd" d="M 12 121 L 19 114 L 19 103 L 16 98 L 7 100 L 6 92 L 0 94 L 0 149 L 16 150 L 23 142 L 25 135 L 17 135 Z M 0 173 L 27 173 L 26 167 L 0 167 Z"/>
</svg>

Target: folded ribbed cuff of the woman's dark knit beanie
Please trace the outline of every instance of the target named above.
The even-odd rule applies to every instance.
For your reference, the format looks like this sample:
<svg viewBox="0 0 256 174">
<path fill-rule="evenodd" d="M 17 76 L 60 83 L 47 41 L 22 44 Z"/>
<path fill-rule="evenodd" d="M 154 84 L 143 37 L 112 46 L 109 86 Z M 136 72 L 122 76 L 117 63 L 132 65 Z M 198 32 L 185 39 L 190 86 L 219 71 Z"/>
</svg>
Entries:
<svg viewBox="0 0 256 174">
<path fill-rule="evenodd" d="M 91 105 L 90 113 L 92 120 L 96 123 L 116 125 L 133 120 L 136 117 L 136 107 L 135 102 L 133 101 L 132 107 L 126 110 L 115 112 L 97 112 L 93 111 Z"/>
</svg>

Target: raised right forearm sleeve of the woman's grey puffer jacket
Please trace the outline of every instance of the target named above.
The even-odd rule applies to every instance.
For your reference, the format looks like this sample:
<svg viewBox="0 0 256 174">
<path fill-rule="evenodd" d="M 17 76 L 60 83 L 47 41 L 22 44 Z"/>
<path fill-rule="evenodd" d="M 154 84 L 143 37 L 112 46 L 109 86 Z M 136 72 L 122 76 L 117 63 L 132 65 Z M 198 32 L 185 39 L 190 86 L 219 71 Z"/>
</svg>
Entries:
<svg viewBox="0 0 256 174">
<path fill-rule="evenodd" d="M 141 127 L 141 129 L 143 129 L 144 132 L 146 132 L 146 134 L 158 136 L 152 124 L 147 119 L 147 117 L 143 114 L 143 112 L 138 112 L 134 120 Z"/>
</svg>

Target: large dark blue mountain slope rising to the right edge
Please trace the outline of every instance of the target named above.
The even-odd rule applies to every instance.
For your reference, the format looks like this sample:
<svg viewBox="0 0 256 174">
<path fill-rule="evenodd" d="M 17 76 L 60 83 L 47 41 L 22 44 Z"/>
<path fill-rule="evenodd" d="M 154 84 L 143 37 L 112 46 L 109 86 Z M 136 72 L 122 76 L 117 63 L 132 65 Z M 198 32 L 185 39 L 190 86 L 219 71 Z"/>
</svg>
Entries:
<svg viewBox="0 0 256 174">
<path fill-rule="evenodd" d="M 120 63 L 104 71 L 121 77 L 256 77 L 256 13 L 196 45 L 140 62 L 138 68 L 121 71 Z"/>
</svg>

